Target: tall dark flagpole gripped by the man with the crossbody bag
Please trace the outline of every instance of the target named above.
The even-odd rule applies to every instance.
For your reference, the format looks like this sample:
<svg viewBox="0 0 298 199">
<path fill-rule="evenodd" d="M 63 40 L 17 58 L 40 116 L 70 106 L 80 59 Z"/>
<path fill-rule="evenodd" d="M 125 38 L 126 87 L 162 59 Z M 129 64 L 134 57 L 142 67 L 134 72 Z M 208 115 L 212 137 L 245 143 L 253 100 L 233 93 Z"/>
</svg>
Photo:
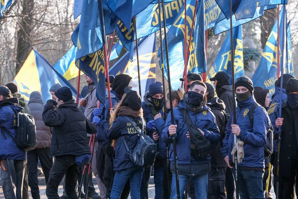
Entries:
<svg viewBox="0 0 298 199">
<path fill-rule="evenodd" d="M 164 0 L 161 0 L 162 13 L 165 13 Z M 165 43 L 165 57 L 166 57 L 166 67 L 167 67 L 167 76 L 168 76 L 168 86 L 169 91 L 171 91 L 171 75 L 170 75 L 170 63 L 169 63 L 169 53 L 168 53 L 168 44 L 167 44 L 167 35 L 166 35 L 166 22 L 165 15 L 163 17 L 163 31 L 164 31 L 164 43 Z M 172 96 L 169 96 L 169 100 L 172 102 Z M 173 103 L 170 103 L 171 111 L 171 124 L 174 124 L 174 114 L 173 114 Z M 177 163 L 177 147 L 176 139 L 173 137 L 173 152 L 174 152 L 174 167 L 175 167 L 175 177 L 176 177 L 176 189 L 177 189 L 177 199 L 180 199 L 180 189 L 179 189 L 179 176 L 178 176 L 178 163 Z"/>
</svg>

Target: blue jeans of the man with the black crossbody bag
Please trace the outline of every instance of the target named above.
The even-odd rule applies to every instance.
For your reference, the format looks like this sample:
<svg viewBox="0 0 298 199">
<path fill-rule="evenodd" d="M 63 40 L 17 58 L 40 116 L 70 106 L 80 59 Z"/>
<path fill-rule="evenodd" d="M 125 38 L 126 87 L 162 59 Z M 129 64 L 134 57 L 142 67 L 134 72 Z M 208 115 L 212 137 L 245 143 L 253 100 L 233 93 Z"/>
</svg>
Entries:
<svg viewBox="0 0 298 199">
<path fill-rule="evenodd" d="M 188 180 L 190 179 L 189 176 L 179 174 L 179 190 L 180 190 L 180 199 L 183 197 L 183 192 L 187 185 Z M 202 174 L 200 176 L 192 177 L 191 178 L 196 193 L 196 199 L 207 199 L 208 193 L 208 173 Z M 177 188 L 176 188 L 176 175 L 173 174 L 172 177 L 172 193 L 170 199 L 177 199 Z"/>
</svg>

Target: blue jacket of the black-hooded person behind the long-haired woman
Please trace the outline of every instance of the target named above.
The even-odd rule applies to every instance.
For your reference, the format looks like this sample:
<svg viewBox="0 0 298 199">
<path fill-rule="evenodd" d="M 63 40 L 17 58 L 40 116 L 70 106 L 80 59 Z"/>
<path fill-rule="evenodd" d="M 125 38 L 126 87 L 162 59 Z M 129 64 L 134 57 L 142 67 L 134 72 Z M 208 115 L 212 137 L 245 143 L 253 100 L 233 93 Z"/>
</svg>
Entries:
<svg viewBox="0 0 298 199">
<path fill-rule="evenodd" d="M 120 96 L 119 96 L 120 97 Z M 121 99 L 117 98 L 115 95 L 114 91 L 111 91 L 111 101 L 112 101 L 112 106 L 114 107 L 115 104 L 117 104 Z M 106 135 L 105 135 L 105 128 L 104 128 L 104 121 L 105 121 L 105 115 L 107 114 L 106 110 L 109 110 L 110 104 L 109 104 L 109 98 L 106 95 L 106 105 L 107 107 L 102 108 L 101 115 L 100 117 L 100 122 L 97 124 L 97 132 L 96 132 L 96 140 L 99 143 L 106 144 L 108 142 Z M 100 107 L 102 107 L 103 104 L 100 104 Z M 91 114 L 91 118 L 93 118 L 93 113 Z"/>
</svg>

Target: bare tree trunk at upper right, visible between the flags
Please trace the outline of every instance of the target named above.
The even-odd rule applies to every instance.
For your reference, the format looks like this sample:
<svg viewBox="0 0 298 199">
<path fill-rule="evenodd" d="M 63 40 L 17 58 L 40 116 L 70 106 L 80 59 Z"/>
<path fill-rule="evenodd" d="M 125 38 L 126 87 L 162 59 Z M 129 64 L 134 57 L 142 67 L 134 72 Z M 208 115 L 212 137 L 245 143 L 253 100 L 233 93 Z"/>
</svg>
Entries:
<svg viewBox="0 0 298 199">
<path fill-rule="evenodd" d="M 264 11 L 264 15 L 260 17 L 261 28 L 261 44 L 264 49 L 270 32 L 277 20 L 277 9 L 269 9 Z"/>
</svg>

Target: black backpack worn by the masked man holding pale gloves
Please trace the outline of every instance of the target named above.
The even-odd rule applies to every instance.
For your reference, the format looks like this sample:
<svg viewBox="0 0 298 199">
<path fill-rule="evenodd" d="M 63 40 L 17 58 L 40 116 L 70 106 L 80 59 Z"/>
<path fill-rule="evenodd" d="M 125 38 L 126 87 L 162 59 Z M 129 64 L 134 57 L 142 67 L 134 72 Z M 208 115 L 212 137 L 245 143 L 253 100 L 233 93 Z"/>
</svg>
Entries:
<svg viewBox="0 0 298 199">
<path fill-rule="evenodd" d="M 258 103 L 254 103 L 249 109 L 249 121 L 253 125 L 253 113 L 256 107 L 261 106 Z M 273 153 L 273 126 L 270 124 L 270 128 L 266 133 L 266 145 L 264 147 L 264 157 L 268 158 Z"/>
</svg>

